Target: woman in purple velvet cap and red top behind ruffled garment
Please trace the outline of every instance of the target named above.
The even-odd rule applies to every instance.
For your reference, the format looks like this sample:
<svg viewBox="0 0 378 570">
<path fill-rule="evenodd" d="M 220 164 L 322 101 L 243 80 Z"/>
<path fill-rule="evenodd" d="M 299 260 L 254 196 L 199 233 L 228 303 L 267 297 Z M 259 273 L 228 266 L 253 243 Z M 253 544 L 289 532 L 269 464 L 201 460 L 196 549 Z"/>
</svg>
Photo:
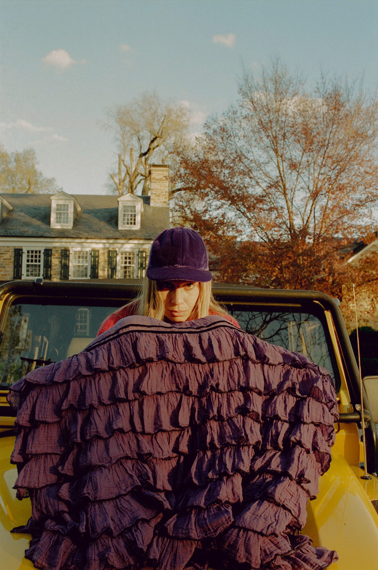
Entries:
<svg viewBox="0 0 378 570">
<path fill-rule="evenodd" d="M 162 231 L 151 246 L 141 294 L 109 315 L 97 336 L 131 315 L 153 317 L 167 323 L 219 315 L 239 327 L 213 298 L 211 279 L 206 246 L 196 231 L 187 227 Z"/>
</svg>

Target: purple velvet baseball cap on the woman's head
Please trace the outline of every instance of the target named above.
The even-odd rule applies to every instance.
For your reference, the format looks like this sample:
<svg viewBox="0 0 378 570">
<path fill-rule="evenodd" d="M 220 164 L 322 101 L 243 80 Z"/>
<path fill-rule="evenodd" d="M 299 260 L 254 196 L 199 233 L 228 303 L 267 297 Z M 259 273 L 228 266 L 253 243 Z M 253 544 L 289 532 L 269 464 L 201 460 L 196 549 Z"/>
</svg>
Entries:
<svg viewBox="0 0 378 570">
<path fill-rule="evenodd" d="M 211 281 L 206 245 L 187 227 L 171 227 L 154 239 L 146 275 L 153 280 Z"/>
</svg>

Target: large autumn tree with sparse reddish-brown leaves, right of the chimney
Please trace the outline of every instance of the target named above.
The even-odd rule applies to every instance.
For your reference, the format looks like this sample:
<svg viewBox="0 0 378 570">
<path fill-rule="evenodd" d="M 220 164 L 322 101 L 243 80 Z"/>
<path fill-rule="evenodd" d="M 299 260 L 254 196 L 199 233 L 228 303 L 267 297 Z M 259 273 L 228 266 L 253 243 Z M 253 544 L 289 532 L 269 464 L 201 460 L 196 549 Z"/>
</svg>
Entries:
<svg viewBox="0 0 378 570">
<path fill-rule="evenodd" d="M 378 105 L 280 61 L 244 73 L 239 101 L 183 153 L 174 212 L 204 237 L 218 279 L 341 295 L 354 240 L 372 239 Z"/>
</svg>

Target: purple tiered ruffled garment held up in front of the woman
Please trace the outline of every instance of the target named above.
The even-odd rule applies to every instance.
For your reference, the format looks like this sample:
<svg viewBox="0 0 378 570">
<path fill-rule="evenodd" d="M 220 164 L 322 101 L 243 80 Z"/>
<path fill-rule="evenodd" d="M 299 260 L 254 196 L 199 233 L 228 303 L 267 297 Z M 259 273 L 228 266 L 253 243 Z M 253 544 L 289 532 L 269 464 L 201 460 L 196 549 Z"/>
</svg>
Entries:
<svg viewBox="0 0 378 570">
<path fill-rule="evenodd" d="M 15 487 L 44 570 L 320 570 L 299 534 L 330 465 L 327 370 L 219 316 L 127 317 L 27 374 Z M 24 530 L 24 528 L 23 528 Z"/>
</svg>

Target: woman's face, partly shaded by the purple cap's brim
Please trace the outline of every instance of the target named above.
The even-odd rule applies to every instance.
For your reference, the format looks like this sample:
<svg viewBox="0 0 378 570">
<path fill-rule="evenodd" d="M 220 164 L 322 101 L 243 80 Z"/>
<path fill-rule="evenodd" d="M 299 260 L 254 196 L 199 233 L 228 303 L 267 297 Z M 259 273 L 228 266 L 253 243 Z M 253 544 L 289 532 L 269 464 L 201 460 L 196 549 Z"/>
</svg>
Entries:
<svg viewBox="0 0 378 570">
<path fill-rule="evenodd" d="M 164 316 L 173 323 L 186 321 L 199 296 L 198 281 L 159 281 L 164 302 Z"/>
</svg>

